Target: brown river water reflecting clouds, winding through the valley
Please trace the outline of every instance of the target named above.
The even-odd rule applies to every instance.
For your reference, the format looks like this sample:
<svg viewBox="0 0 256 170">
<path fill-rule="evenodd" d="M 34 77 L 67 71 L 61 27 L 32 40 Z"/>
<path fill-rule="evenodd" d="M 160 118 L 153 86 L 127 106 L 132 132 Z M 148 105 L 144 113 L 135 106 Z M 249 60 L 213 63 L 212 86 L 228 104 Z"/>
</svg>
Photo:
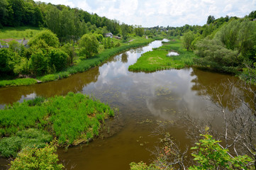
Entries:
<svg viewBox="0 0 256 170">
<path fill-rule="evenodd" d="M 130 162 L 148 162 L 153 159 L 159 136 L 152 132 L 162 124 L 181 147 L 191 146 L 183 114 L 204 120 L 206 108 L 214 106 L 205 99 L 211 96 L 211 87 L 223 82 L 236 81 L 226 74 L 204 72 L 199 69 L 171 69 L 153 73 L 129 72 L 128 66 L 152 47 L 123 52 L 111 57 L 99 67 L 74 74 L 67 79 L 33 86 L 0 89 L 0 107 L 35 96 L 66 95 L 69 91 L 92 94 L 95 98 L 118 108 L 116 118 L 106 121 L 104 132 L 89 144 L 58 149 L 59 157 L 67 169 L 129 169 Z M 231 95 L 232 91 L 226 92 Z M 215 113 L 213 113 L 215 114 Z M 218 121 L 217 121 L 218 124 Z M 9 164 L 0 159 L 0 169 Z"/>
</svg>

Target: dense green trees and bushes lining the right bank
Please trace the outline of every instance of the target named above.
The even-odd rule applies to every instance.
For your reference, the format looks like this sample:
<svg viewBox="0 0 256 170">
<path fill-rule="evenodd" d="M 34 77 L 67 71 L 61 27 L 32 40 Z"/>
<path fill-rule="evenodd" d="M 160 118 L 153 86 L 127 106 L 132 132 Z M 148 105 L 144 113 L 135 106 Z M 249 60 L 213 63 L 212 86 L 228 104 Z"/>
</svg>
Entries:
<svg viewBox="0 0 256 170">
<path fill-rule="evenodd" d="M 204 26 L 157 26 L 147 28 L 145 34 L 156 36 L 157 40 L 177 36 L 187 51 L 194 51 L 199 56 L 194 58 L 194 66 L 238 74 L 245 81 L 255 82 L 255 13 L 252 11 L 243 18 L 208 16 Z"/>
</svg>

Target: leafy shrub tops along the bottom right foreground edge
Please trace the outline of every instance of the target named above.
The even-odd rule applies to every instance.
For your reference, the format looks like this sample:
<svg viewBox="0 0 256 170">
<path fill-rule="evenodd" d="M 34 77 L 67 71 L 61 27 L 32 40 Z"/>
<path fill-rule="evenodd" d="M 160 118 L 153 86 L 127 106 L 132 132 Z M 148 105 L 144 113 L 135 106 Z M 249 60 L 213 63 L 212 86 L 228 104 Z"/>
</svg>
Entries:
<svg viewBox="0 0 256 170">
<path fill-rule="evenodd" d="M 142 170 L 142 169 L 174 169 L 174 164 L 182 165 L 180 169 L 199 170 L 199 169 L 250 169 L 250 163 L 252 159 L 246 154 L 238 157 L 233 157 L 228 152 L 228 149 L 223 149 L 219 145 L 219 142 L 212 138 L 211 135 L 201 135 L 204 139 L 196 143 L 196 147 L 192 147 L 192 150 L 196 152 L 191 155 L 194 157 L 196 165 L 187 167 L 184 165 L 184 160 L 179 157 L 179 148 L 174 144 L 172 140 L 165 140 L 165 145 L 157 154 L 158 157 L 150 165 L 143 162 L 136 164 L 130 163 L 130 169 Z M 167 137 L 169 138 L 169 137 Z M 167 139 L 165 138 L 165 139 Z M 175 147 L 172 147 L 175 145 Z M 183 154 L 186 154 L 184 152 Z M 184 155 L 182 154 L 182 157 Z M 175 159 L 172 159 L 175 158 Z M 170 159 L 170 160 L 169 160 Z M 169 160 L 170 162 L 167 162 Z"/>
</svg>

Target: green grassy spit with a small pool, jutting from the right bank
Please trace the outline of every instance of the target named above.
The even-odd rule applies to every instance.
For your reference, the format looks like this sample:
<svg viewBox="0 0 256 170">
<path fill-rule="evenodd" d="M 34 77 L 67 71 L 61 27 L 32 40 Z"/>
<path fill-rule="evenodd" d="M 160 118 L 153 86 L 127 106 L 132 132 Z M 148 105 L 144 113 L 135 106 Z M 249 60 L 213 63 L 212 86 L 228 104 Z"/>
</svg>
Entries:
<svg viewBox="0 0 256 170">
<path fill-rule="evenodd" d="M 177 52 L 178 56 L 167 56 L 168 52 Z M 193 52 L 187 51 L 181 40 L 177 38 L 169 42 L 163 42 L 161 47 L 153 49 L 153 51 L 145 52 L 135 64 L 129 66 L 132 72 L 155 72 L 162 69 L 182 69 L 193 65 Z"/>
</svg>

